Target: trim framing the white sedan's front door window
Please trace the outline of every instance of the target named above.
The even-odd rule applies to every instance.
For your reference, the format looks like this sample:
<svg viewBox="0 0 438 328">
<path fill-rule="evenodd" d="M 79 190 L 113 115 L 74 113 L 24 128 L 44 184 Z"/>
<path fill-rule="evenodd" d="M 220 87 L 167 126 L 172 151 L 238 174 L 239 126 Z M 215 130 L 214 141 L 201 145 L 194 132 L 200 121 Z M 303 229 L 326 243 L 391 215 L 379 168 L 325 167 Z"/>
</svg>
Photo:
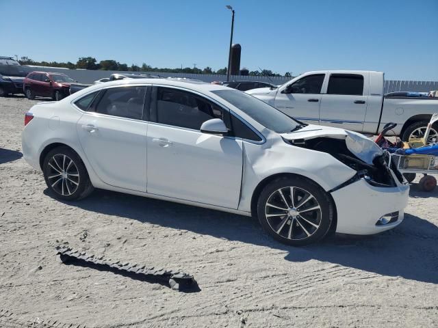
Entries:
<svg viewBox="0 0 438 328">
<path fill-rule="evenodd" d="M 245 124 L 246 126 L 248 126 L 248 128 L 250 128 L 256 135 L 258 135 L 261 139 L 261 141 L 255 141 L 255 140 L 250 140 L 250 139 L 244 139 L 241 137 L 234 137 L 234 136 L 229 136 L 229 135 L 224 135 L 224 138 L 231 138 L 231 139 L 242 139 L 242 141 L 247 141 L 250 143 L 256 143 L 256 144 L 262 144 L 266 142 L 266 138 L 263 134 L 260 133 L 260 131 L 258 131 L 256 128 L 254 128 L 251 124 L 249 124 L 248 122 L 246 122 L 246 120 L 244 120 L 240 115 L 238 115 L 237 113 L 235 113 L 234 111 L 231 111 L 228 107 L 222 105 L 220 102 L 218 102 L 217 100 L 205 95 L 205 94 L 201 94 L 200 92 L 196 92 L 195 90 L 190 90 L 187 89 L 185 87 L 179 87 L 179 86 L 175 86 L 175 85 L 162 85 L 162 84 L 153 84 L 153 90 L 152 90 L 152 96 L 151 96 L 151 104 L 149 106 L 149 110 L 150 110 L 150 118 L 151 120 L 149 122 L 153 123 L 153 124 L 157 124 L 157 125 L 161 125 L 161 126 L 169 126 L 171 128 L 179 128 L 181 130 L 185 130 L 185 131 L 195 131 L 198 133 L 202 133 L 199 130 L 196 130 L 194 128 L 184 128 L 182 126 L 174 126 L 174 125 L 170 125 L 170 124 L 164 124 L 164 123 L 159 123 L 157 122 L 157 91 L 158 91 L 158 87 L 168 87 L 168 88 L 172 88 L 172 89 L 177 89 L 177 90 L 181 90 L 184 92 L 189 92 L 192 93 L 196 96 L 199 96 L 201 98 L 205 98 L 210 102 L 213 102 L 215 105 L 217 105 L 218 107 L 220 107 L 220 109 L 222 109 L 223 111 L 226 111 L 228 113 L 228 115 L 235 115 L 235 117 L 237 119 L 239 119 L 243 124 Z M 230 122 L 231 122 L 231 118 L 230 118 Z M 231 127 L 232 128 L 232 127 Z M 234 131 L 231 131 L 234 134 Z"/>
</svg>

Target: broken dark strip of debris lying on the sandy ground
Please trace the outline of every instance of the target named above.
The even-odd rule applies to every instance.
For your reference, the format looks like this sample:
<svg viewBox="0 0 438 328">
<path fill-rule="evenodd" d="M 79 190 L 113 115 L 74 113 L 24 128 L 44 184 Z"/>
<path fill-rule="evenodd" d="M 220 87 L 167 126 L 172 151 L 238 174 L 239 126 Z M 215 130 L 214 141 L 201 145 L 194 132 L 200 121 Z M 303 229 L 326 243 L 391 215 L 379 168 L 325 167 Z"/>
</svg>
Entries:
<svg viewBox="0 0 438 328">
<path fill-rule="evenodd" d="M 168 286 L 172 288 L 172 290 L 183 291 L 198 289 L 196 280 L 188 273 L 157 269 L 154 267 L 148 268 L 145 265 L 123 263 L 118 260 L 105 259 L 104 256 L 94 256 L 87 254 L 84 251 L 77 251 L 64 245 L 57 247 L 57 258 L 62 263 L 66 263 L 69 260 L 78 260 L 85 264 L 97 266 L 99 269 L 106 269 L 113 272 L 120 271 L 120 273 L 129 273 L 133 276 L 141 275 L 141 277 L 149 281 L 165 281 L 168 282 Z"/>
</svg>

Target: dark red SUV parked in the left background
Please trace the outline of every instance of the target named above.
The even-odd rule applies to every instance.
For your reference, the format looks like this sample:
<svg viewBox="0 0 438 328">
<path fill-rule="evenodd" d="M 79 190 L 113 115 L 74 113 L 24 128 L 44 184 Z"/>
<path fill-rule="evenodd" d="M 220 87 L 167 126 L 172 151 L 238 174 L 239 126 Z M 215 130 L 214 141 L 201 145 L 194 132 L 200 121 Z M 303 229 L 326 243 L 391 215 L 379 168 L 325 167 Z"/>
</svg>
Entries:
<svg viewBox="0 0 438 328">
<path fill-rule="evenodd" d="M 23 90 L 29 99 L 43 96 L 61 100 L 70 94 L 70 86 L 73 84 L 78 83 L 63 73 L 30 72 L 25 77 Z"/>
</svg>

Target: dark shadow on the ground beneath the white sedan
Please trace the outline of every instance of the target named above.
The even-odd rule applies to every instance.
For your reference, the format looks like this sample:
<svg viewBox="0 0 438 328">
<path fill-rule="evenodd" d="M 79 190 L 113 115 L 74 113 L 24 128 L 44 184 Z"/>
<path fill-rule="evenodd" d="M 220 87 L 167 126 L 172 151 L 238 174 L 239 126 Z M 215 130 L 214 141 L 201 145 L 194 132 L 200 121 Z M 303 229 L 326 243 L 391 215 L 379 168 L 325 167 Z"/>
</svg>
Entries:
<svg viewBox="0 0 438 328">
<path fill-rule="evenodd" d="M 48 189 L 44 193 L 52 197 Z M 336 235 L 315 245 L 290 247 L 265 234 L 257 219 L 217 210 L 103 190 L 68 204 L 121 219 L 281 249 L 288 252 L 285 260 L 291 262 L 313 259 L 379 275 L 438 283 L 438 227 L 414 215 L 405 215 L 400 226 L 378 235 Z"/>
</svg>

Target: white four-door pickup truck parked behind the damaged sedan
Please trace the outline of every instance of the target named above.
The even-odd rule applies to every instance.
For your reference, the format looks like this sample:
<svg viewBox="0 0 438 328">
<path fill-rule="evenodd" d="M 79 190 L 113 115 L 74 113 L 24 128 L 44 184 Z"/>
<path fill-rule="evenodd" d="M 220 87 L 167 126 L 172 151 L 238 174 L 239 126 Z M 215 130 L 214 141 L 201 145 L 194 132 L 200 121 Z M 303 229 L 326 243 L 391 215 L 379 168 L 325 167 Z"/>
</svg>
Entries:
<svg viewBox="0 0 438 328">
<path fill-rule="evenodd" d="M 422 137 L 438 98 L 387 97 L 383 72 L 323 70 L 307 72 L 277 88 L 248 90 L 283 113 L 309 124 L 335 126 L 365 134 L 378 134 L 388 122 L 397 123 L 388 135 L 404 141 Z M 433 126 L 430 141 L 438 141 Z"/>
</svg>

